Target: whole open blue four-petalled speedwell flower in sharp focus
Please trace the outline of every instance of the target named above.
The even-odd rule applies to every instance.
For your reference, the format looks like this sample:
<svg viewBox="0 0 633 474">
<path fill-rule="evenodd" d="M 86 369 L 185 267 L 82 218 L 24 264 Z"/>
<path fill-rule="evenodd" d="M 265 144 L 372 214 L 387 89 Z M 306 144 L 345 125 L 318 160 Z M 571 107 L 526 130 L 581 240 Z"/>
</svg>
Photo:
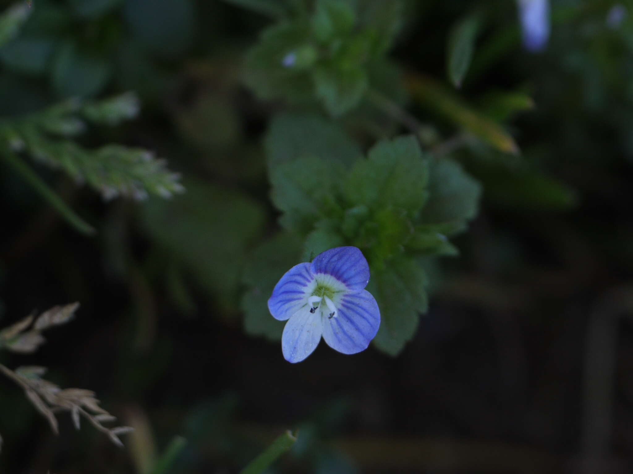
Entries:
<svg viewBox="0 0 633 474">
<path fill-rule="evenodd" d="M 321 336 L 332 349 L 355 354 L 367 349 L 380 325 L 380 310 L 365 289 L 369 265 L 356 247 L 330 248 L 312 263 L 295 265 L 281 277 L 268 309 L 288 320 L 281 339 L 284 357 L 301 362 Z"/>
</svg>

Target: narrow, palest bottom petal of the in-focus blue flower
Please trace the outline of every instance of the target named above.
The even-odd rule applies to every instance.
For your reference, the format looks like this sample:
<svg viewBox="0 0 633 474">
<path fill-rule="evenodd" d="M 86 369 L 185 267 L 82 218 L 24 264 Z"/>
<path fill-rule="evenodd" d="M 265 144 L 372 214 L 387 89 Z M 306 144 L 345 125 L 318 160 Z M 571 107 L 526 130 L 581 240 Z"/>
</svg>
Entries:
<svg viewBox="0 0 633 474">
<path fill-rule="evenodd" d="M 281 336 L 281 349 L 288 362 L 301 362 L 309 356 L 321 340 L 320 313 L 311 313 L 306 307 L 292 315 Z"/>
</svg>

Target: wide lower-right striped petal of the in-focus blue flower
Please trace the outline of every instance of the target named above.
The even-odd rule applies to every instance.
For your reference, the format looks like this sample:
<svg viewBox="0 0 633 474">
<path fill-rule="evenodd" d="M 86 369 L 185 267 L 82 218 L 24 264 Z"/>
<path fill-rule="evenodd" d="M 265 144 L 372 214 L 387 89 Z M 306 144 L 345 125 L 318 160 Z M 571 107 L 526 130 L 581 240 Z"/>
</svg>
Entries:
<svg viewBox="0 0 633 474">
<path fill-rule="evenodd" d="M 369 291 L 348 293 L 337 303 L 338 315 L 323 319 L 323 339 L 344 354 L 364 351 L 380 326 L 378 303 Z"/>
</svg>

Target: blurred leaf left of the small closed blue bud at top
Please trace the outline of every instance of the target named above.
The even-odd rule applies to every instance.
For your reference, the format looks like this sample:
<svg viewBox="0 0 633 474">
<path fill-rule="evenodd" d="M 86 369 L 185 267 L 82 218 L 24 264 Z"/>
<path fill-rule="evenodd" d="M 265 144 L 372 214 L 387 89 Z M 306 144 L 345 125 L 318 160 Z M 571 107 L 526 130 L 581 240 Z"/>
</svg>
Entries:
<svg viewBox="0 0 633 474">
<path fill-rule="evenodd" d="M 310 73 L 293 64 L 284 66 L 289 54 L 296 54 L 310 41 L 310 26 L 305 21 L 279 23 L 266 28 L 258 43 L 246 54 L 244 83 L 260 98 L 306 102 L 312 99 Z"/>
</svg>

